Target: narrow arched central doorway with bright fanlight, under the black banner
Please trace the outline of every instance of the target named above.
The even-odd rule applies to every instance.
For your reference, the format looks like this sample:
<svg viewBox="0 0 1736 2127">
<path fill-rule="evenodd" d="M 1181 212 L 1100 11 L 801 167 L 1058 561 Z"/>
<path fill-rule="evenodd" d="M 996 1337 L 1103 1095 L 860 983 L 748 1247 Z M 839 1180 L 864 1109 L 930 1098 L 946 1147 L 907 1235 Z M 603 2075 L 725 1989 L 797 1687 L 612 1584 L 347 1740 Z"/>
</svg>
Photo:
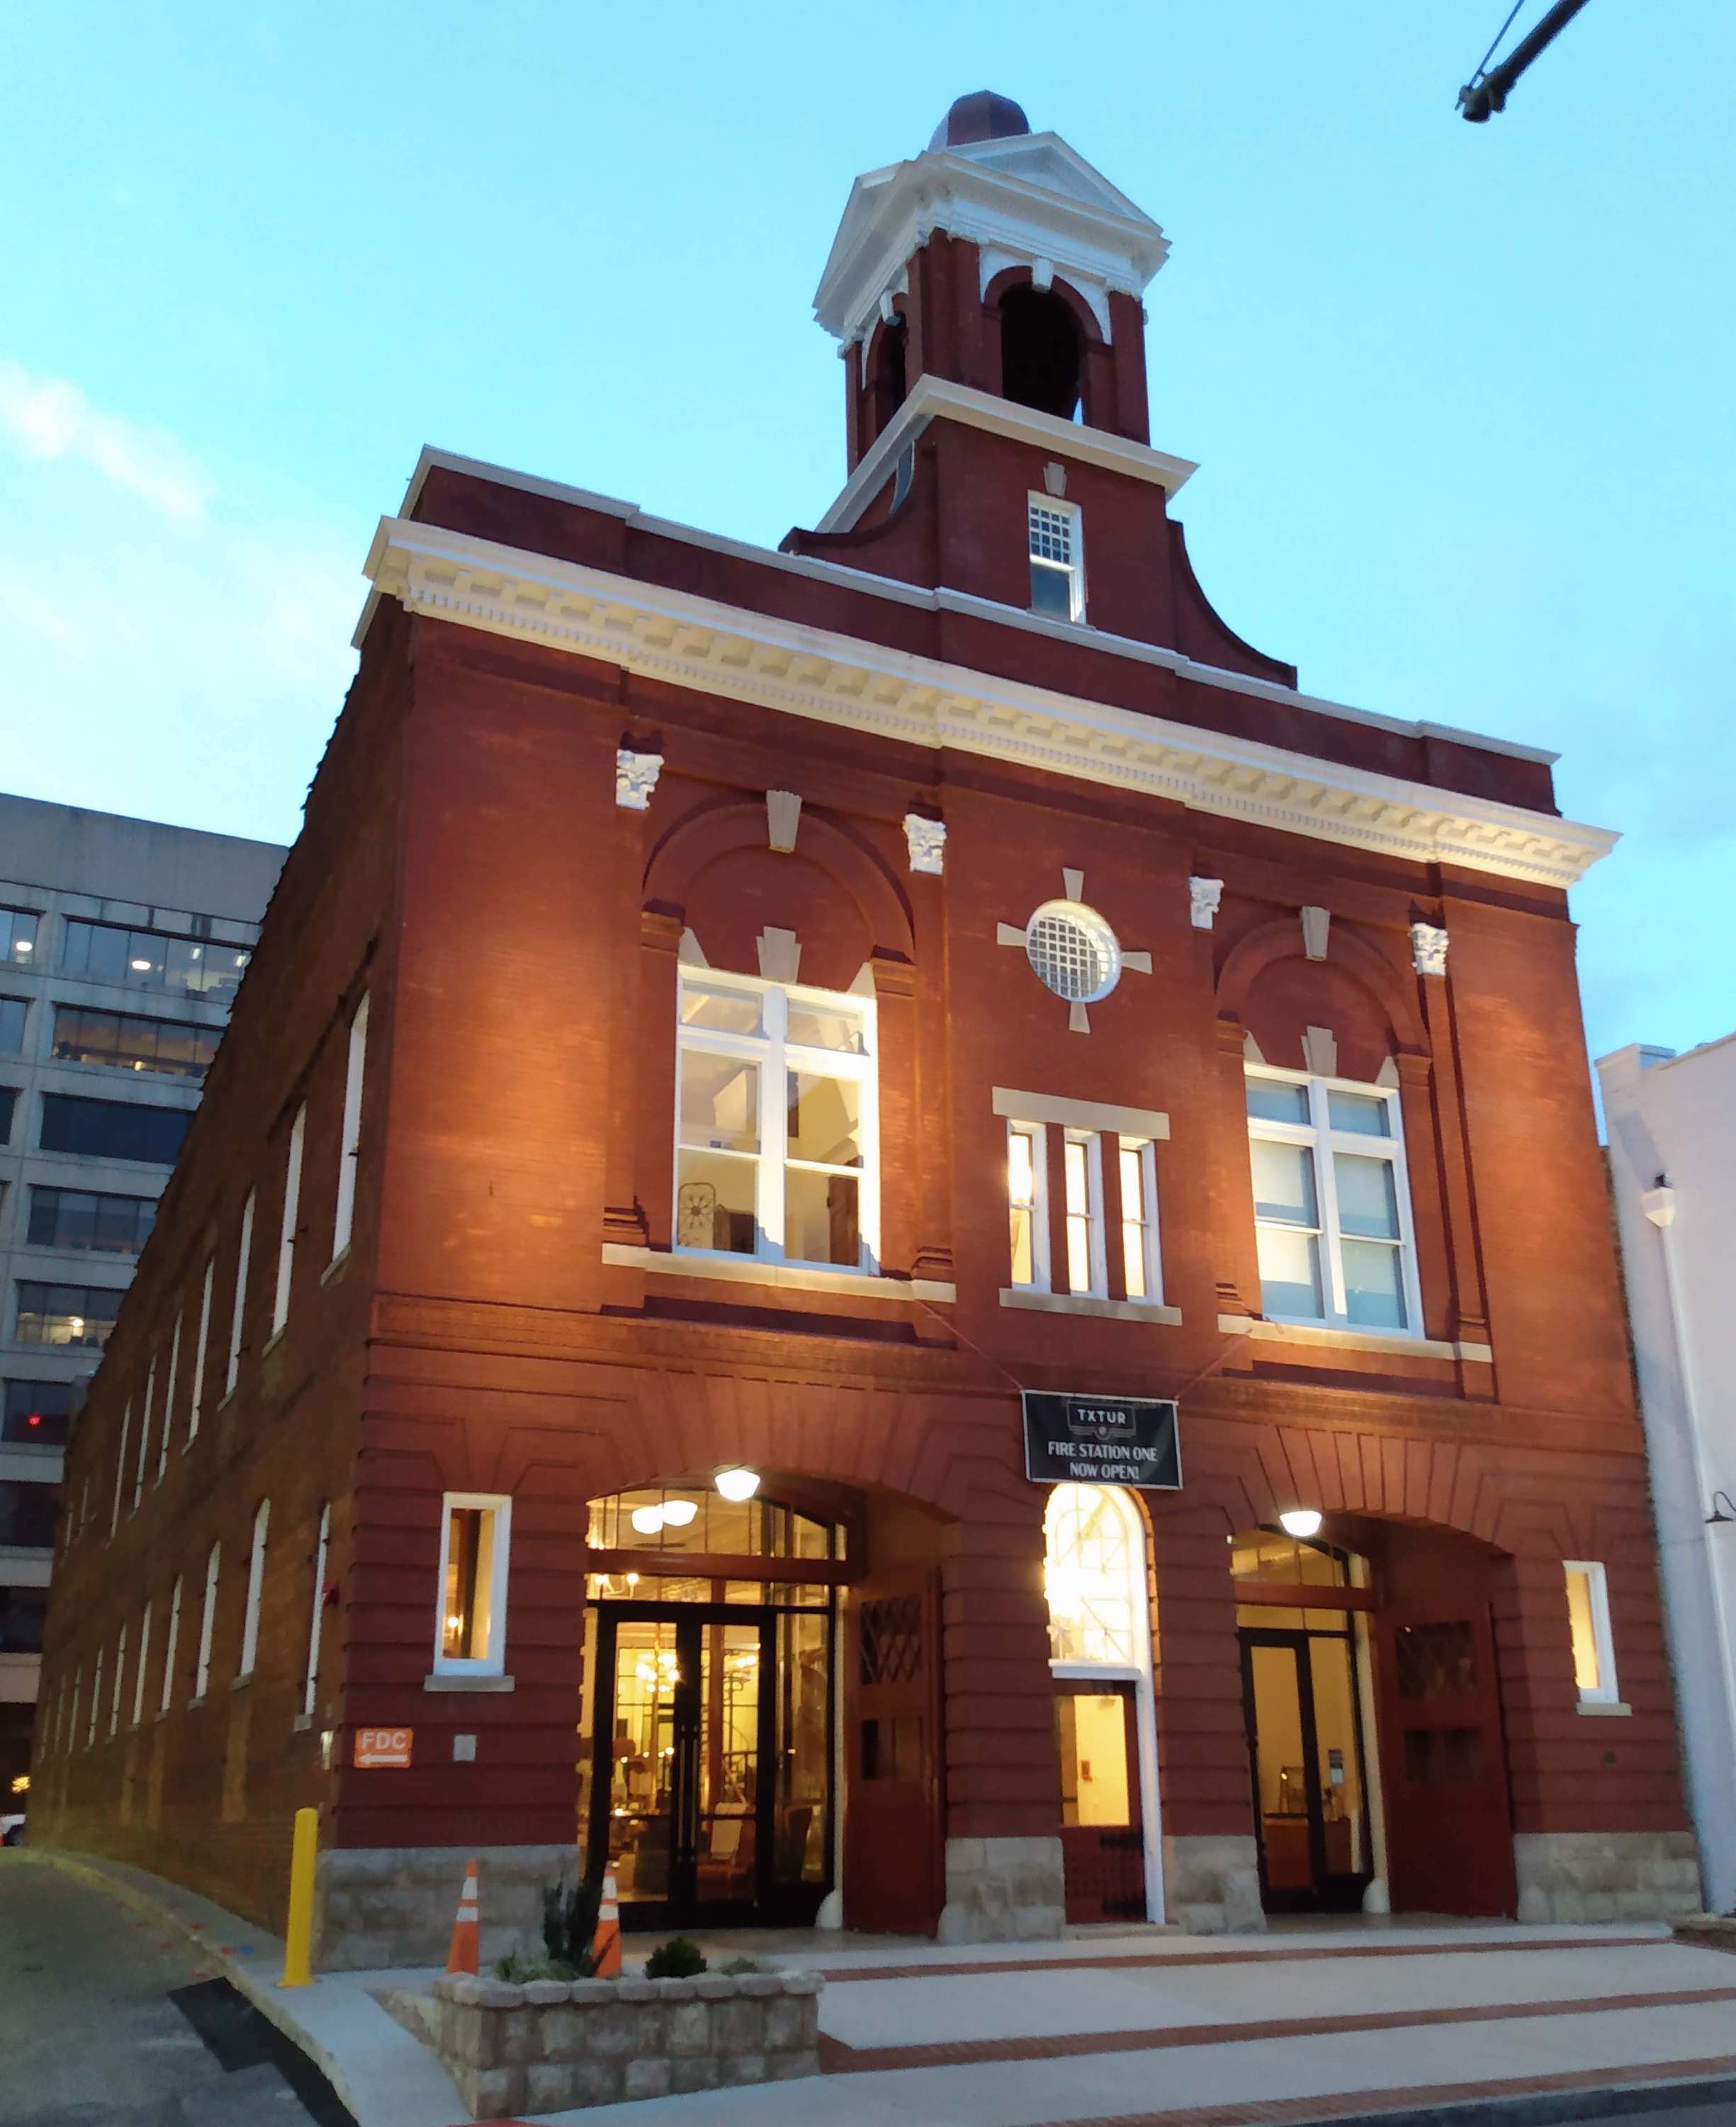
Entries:
<svg viewBox="0 0 1736 2127">
<path fill-rule="evenodd" d="M 1056 1485 L 1043 1587 L 1067 1919 L 1156 1921 L 1158 1768 L 1145 1525 L 1118 1485 Z"/>
</svg>

